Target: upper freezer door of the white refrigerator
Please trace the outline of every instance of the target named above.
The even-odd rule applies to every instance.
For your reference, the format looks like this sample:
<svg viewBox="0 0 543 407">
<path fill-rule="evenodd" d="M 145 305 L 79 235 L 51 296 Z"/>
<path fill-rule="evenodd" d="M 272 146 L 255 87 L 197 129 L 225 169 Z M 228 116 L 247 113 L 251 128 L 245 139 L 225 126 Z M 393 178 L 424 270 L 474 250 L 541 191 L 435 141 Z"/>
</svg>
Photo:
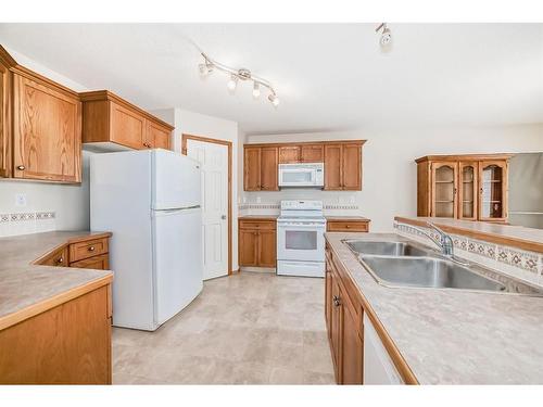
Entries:
<svg viewBox="0 0 543 407">
<path fill-rule="evenodd" d="M 200 164 L 173 151 L 153 150 L 153 202 L 155 211 L 201 204 Z"/>
</svg>

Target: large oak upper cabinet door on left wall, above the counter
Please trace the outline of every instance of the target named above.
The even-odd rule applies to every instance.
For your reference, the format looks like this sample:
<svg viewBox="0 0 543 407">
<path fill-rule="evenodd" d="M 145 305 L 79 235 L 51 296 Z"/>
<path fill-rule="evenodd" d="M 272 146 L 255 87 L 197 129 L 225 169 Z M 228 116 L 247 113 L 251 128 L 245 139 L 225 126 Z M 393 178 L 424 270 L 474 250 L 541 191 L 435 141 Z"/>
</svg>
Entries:
<svg viewBox="0 0 543 407">
<path fill-rule="evenodd" d="M 20 75 L 13 78 L 13 176 L 80 182 L 79 99 Z"/>
</svg>

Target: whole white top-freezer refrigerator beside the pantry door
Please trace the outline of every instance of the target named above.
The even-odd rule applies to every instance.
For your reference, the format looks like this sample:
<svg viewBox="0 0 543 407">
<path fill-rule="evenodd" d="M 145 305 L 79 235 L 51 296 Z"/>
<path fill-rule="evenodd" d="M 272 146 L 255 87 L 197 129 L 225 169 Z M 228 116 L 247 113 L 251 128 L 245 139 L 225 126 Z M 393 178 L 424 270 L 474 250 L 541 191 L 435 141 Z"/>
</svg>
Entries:
<svg viewBox="0 0 543 407">
<path fill-rule="evenodd" d="M 93 154 L 90 228 L 113 233 L 113 325 L 154 331 L 202 291 L 199 163 L 166 150 Z"/>
</svg>

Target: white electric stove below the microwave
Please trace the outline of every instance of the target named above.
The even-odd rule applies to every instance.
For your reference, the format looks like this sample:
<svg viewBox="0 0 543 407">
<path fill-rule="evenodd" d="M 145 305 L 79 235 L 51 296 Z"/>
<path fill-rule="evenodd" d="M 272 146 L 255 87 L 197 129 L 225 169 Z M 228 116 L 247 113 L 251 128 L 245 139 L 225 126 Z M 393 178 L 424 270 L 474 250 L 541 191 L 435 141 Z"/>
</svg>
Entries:
<svg viewBox="0 0 543 407">
<path fill-rule="evenodd" d="M 277 274 L 325 277 L 325 231 L 321 201 L 281 201 Z"/>
</svg>

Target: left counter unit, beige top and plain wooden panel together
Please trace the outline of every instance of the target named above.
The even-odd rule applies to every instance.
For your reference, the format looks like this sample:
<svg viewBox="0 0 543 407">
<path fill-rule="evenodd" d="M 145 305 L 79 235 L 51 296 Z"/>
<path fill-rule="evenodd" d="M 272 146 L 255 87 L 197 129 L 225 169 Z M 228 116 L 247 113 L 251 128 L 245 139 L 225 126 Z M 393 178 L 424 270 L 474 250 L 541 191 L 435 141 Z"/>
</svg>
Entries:
<svg viewBox="0 0 543 407">
<path fill-rule="evenodd" d="M 113 274 L 35 264 L 64 246 L 80 249 L 110 236 L 58 231 L 0 239 L 0 383 L 111 383 Z"/>
</svg>

